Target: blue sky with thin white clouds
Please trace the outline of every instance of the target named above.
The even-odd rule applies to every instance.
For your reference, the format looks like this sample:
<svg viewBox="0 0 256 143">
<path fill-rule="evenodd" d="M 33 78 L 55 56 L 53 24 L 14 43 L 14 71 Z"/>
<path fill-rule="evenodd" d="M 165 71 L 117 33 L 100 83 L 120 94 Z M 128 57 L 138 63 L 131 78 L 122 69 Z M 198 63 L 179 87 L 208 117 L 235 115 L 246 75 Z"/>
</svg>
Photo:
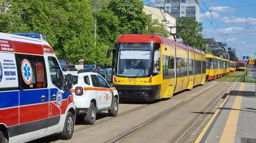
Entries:
<svg viewBox="0 0 256 143">
<path fill-rule="evenodd" d="M 143 2 L 153 5 L 155 0 Z M 199 0 L 199 6 L 204 38 L 226 42 L 239 58 L 256 58 L 256 0 Z"/>
</svg>

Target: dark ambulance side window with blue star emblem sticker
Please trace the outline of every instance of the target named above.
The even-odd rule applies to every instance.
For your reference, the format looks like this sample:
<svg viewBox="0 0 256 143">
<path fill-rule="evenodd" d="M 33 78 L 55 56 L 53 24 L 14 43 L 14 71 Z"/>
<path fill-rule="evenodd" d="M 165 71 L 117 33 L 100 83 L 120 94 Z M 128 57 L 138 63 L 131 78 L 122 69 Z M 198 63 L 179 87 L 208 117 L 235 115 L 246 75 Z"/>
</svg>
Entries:
<svg viewBox="0 0 256 143">
<path fill-rule="evenodd" d="M 43 56 L 15 54 L 19 85 L 22 89 L 47 88 Z"/>
</svg>

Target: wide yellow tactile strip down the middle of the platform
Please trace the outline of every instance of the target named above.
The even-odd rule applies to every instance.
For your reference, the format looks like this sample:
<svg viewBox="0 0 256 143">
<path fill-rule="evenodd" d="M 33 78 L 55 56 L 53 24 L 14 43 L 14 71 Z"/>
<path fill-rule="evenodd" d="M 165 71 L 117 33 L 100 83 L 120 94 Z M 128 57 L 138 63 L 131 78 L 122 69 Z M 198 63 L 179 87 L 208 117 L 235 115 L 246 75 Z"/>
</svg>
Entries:
<svg viewBox="0 0 256 143">
<path fill-rule="evenodd" d="M 228 120 L 226 122 L 225 128 L 222 132 L 220 142 L 234 142 L 236 135 L 236 126 L 238 122 L 239 110 L 242 102 L 242 94 L 244 90 L 244 83 L 241 83 L 238 94 L 235 98 L 235 102 L 233 104 L 232 110 L 228 116 Z"/>
</svg>

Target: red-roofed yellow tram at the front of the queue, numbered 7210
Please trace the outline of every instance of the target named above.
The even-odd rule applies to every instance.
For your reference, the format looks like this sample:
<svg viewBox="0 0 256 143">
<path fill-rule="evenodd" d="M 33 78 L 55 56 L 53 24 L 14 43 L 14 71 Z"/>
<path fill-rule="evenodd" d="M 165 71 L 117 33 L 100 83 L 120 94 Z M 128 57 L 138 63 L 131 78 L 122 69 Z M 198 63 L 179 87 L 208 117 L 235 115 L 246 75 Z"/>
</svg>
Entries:
<svg viewBox="0 0 256 143">
<path fill-rule="evenodd" d="M 205 53 L 158 35 L 120 36 L 113 63 L 121 101 L 170 98 L 205 82 Z"/>
</svg>

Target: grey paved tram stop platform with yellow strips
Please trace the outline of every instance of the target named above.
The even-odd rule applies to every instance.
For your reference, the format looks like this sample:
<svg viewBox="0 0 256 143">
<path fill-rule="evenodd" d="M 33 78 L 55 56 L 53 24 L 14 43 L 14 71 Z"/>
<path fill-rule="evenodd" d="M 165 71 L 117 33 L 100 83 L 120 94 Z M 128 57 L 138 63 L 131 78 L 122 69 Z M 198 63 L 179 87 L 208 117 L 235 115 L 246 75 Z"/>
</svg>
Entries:
<svg viewBox="0 0 256 143">
<path fill-rule="evenodd" d="M 238 82 L 195 142 L 256 142 L 255 83 Z"/>
</svg>

